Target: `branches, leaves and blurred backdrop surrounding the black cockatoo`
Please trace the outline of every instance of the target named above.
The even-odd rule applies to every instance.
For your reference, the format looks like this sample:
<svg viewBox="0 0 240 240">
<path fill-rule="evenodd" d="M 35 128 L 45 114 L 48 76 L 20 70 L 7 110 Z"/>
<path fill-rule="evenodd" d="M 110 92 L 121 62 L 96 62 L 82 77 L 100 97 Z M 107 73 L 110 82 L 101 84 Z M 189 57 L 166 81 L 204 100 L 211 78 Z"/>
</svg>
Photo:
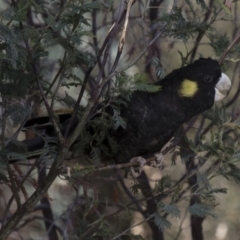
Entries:
<svg viewBox="0 0 240 240">
<path fill-rule="evenodd" d="M 0 239 L 239 239 L 239 14 L 231 0 L 1 0 Z M 233 87 L 183 126 L 163 170 L 134 179 L 79 145 L 61 157 L 57 137 L 36 160 L 16 151 L 27 119 L 81 120 L 199 57 L 220 61 Z"/>
</svg>

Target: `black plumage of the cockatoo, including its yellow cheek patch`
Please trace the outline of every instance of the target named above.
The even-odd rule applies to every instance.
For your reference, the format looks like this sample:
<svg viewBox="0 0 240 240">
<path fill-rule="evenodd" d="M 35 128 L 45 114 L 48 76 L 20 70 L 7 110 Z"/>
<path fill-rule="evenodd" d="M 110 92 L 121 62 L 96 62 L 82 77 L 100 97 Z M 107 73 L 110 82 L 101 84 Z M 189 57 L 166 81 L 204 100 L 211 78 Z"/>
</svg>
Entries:
<svg viewBox="0 0 240 240">
<path fill-rule="evenodd" d="M 215 87 L 221 74 L 217 61 L 200 58 L 156 82 L 155 85 L 160 86 L 158 92 L 133 92 L 130 101 L 124 100 L 126 104 L 120 105 L 120 115 L 126 121 L 126 128 L 119 127 L 108 132 L 118 143 L 118 151 L 113 154 L 114 159 L 126 162 L 135 156 L 148 157 L 159 152 L 179 126 L 213 106 Z M 111 112 L 108 108 L 106 111 Z M 47 118 L 30 120 L 27 126 L 42 123 L 43 120 L 48 121 Z M 60 119 L 63 132 L 68 121 L 68 116 Z M 75 119 L 72 131 L 76 124 Z M 47 126 L 45 134 L 54 135 L 53 128 Z M 28 151 L 37 150 L 44 145 L 39 137 L 24 143 Z M 104 143 L 107 145 L 107 141 Z"/>
</svg>

